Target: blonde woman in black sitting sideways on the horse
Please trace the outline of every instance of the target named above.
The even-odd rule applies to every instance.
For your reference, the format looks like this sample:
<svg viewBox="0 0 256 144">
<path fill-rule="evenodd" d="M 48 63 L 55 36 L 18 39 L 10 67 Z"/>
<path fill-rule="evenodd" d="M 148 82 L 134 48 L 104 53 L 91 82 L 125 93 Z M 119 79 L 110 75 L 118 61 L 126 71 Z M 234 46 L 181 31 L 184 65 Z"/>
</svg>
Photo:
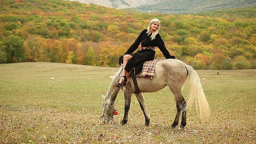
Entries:
<svg viewBox="0 0 256 144">
<path fill-rule="evenodd" d="M 156 50 L 158 47 L 164 57 L 174 58 L 175 56 L 170 55 L 169 51 L 166 49 L 164 41 L 162 40 L 160 34 L 158 33 L 160 28 L 160 21 L 154 18 L 148 24 L 148 28 L 142 30 L 138 38 L 130 46 L 130 48 L 124 53 L 123 56 L 119 58 L 119 64 L 123 64 L 122 77 L 119 82 L 115 84 L 117 87 L 122 87 L 126 85 L 127 77 L 134 69 L 134 74 L 138 74 L 142 70 L 143 63 L 147 60 L 154 60 Z M 132 54 L 138 46 L 141 44 L 141 49 L 135 54 Z"/>
</svg>

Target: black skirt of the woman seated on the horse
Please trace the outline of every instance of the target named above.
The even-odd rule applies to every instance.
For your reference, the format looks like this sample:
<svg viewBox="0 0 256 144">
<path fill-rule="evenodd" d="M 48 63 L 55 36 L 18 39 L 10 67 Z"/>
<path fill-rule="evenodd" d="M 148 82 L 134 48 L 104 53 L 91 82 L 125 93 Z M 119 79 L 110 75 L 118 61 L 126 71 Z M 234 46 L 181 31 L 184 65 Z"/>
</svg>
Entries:
<svg viewBox="0 0 256 144">
<path fill-rule="evenodd" d="M 142 49 L 138 50 L 135 54 L 129 54 L 132 55 L 132 58 L 128 60 L 124 70 L 127 72 L 130 72 L 132 69 L 134 69 L 134 74 L 138 74 L 142 71 L 142 67 L 145 61 L 148 60 L 154 60 L 156 51 L 151 49 Z M 123 63 L 124 56 L 120 56 L 119 58 L 119 65 Z"/>
</svg>

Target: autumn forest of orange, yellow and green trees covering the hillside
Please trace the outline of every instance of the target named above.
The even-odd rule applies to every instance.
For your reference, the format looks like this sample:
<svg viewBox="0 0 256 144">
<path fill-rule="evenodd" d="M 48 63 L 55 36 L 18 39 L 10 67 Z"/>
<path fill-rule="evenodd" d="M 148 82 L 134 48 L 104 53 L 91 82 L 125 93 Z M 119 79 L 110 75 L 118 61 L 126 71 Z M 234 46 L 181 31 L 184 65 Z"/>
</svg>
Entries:
<svg viewBox="0 0 256 144">
<path fill-rule="evenodd" d="M 152 18 L 158 18 L 166 48 L 195 69 L 255 69 L 255 11 L 144 14 L 63 0 L 1 0 L 0 64 L 59 62 L 118 67 L 119 56 Z M 156 59 L 163 59 L 160 50 L 156 51 Z"/>
</svg>

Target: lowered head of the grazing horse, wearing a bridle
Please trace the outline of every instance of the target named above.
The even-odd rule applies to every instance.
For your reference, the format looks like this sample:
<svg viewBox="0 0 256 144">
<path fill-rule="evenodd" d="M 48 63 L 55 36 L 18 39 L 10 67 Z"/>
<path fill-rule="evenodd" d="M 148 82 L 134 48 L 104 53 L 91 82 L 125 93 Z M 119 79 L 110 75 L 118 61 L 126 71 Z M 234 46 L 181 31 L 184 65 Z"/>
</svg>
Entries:
<svg viewBox="0 0 256 144">
<path fill-rule="evenodd" d="M 103 104 L 102 104 L 102 108 L 103 108 L 103 114 L 102 114 L 102 118 L 103 118 L 103 123 L 104 124 L 109 124 L 110 120 L 114 120 L 113 116 L 114 116 L 114 112 L 115 111 L 115 105 L 110 106 L 108 104 L 108 99 L 106 96 L 104 96 L 102 94 L 102 99 L 104 100 Z"/>
</svg>

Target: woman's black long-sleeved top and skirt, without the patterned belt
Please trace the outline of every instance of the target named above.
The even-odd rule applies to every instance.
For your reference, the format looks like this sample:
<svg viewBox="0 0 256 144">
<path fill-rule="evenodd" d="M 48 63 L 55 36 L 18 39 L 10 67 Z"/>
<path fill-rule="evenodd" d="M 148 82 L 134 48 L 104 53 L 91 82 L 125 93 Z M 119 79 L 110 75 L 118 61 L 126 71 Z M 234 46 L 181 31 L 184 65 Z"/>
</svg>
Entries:
<svg viewBox="0 0 256 144">
<path fill-rule="evenodd" d="M 141 44 L 141 47 L 147 46 L 157 46 L 160 51 L 163 53 L 166 59 L 175 58 L 175 56 L 170 55 L 169 51 L 166 49 L 164 41 L 162 40 L 160 34 L 156 35 L 154 40 L 151 40 L 150 35 L 147 33 L 147 29 L 142 30 L 138 38 L 130 46 L 130 48 L 124 53 L 133 55 L 130 60 L 128 60 L 126 67 L 124 68 L 127 72 L 130 72 L 133 68 L 135 69 L 135 74 L 138 74 L 142 70 L 143 63 L 147 60 L 154 60 L 156 52 L 150 49 L 138 50 L 135 54 L 132 54 L 138 46 Z M 123 56 L 119 58 L 119 64 L 122 63 Z"/>
</svg>

